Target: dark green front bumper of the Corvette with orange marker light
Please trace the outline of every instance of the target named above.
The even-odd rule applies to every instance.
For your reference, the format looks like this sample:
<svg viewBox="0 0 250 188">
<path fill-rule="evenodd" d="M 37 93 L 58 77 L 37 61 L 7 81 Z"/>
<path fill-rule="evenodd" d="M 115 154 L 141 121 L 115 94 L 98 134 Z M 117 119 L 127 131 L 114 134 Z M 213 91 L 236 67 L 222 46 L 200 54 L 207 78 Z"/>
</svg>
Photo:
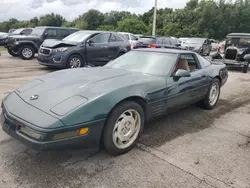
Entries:
<svg viewBox="0 0 250 188">
<path fill-rule="evenodd" d="M 63 128 L 56 129 L 44 129 L 36 127 L 36 129 L 34 129 L 35 126 L 25 121 L 23 117 L 17 117 L 16 115 L 12 114 L 5 103 L 3 103 L 3 108 L 0 108 L 0 124 L 3 131 L 11 137 L 19 140 L 27 147 L 35 150 L 70 150 L 75 148 L 98 149 L 104 122 L 105 120 L 99 120 L 72 127 L 64 126 Z M 24 134 L 21 132 L 21 127 L 28 128 L 33 132 L 36 131 L 42 135 L 41 139 L 36 140 Z M 64 138 L 61 140 L 48 139 L 52 138 L 52 135 L 79 130 L 84 127 L 89 128 L 88 133 L 85 135 L 66 139 Z M 39 132 L 37 130 L 39 130 Z"/>
</svg>

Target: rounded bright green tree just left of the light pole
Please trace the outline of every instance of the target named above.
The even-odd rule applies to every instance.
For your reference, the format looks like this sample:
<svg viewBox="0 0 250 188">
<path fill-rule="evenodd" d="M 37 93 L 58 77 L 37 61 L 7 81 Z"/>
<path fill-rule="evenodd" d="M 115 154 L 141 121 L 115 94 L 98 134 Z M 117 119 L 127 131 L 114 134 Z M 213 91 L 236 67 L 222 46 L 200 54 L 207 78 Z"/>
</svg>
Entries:
<svg viewBox="0 0 250 188">
<path fill-rule="evenodd" d="M 147 32 L 147 26 L 136 18 L 127 18 L 118 22 L 118 31 L 130 32 L 130 33 L 141 33 Z"/>
</svg>

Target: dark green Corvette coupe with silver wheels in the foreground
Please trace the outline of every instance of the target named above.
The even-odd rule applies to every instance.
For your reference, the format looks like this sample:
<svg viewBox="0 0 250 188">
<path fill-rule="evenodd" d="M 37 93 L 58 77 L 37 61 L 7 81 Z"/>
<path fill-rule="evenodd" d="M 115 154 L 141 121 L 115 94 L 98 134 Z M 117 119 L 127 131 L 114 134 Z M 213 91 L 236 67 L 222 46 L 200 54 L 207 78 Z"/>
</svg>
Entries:
<svg viewBox="0 0 250 188">
<path fill-rule="evenodd" d="M 228 78 L 223 63 L 195 52 L 138 49 L 104 67 L 62 70 L 8 94 L 3 130 L 37 150 L 128 152 L 144 124 L 199 102 L 213 109 Z"/>
</svg>

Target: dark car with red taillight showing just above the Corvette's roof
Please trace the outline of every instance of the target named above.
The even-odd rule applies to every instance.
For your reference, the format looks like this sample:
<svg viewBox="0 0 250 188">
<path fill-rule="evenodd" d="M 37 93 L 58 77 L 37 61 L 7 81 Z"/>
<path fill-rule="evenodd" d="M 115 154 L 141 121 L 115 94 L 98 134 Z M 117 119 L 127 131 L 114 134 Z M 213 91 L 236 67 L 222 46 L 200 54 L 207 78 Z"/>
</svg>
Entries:
<svg viewBox="0 0 250 188">
<path fill-rule="evenodd" d="M 181 49 L 179 41 L 175 37 L 142 36 L 136 48 L 175 48 Z"/>
</svg>

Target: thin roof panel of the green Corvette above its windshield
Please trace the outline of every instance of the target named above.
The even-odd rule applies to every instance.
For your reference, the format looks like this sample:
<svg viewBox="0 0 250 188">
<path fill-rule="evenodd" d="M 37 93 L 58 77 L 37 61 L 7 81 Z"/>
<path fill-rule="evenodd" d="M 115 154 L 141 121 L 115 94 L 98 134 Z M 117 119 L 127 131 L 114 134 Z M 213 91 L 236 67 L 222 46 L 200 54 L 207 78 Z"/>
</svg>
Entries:
<svg viewBox="0 0 250 188">
<path fill-rule="evenodd" d="M 182 50 L 182 49 L 171 49 L 171 48 L 138 48 L 133 51 L 142 51 L 142 52 L 159 52 L 159 53 L 172 53 L 172 54 L 181 54 L 181 53 L 190 53 L 195 54 L 193 51 Z"/>
</svg>

